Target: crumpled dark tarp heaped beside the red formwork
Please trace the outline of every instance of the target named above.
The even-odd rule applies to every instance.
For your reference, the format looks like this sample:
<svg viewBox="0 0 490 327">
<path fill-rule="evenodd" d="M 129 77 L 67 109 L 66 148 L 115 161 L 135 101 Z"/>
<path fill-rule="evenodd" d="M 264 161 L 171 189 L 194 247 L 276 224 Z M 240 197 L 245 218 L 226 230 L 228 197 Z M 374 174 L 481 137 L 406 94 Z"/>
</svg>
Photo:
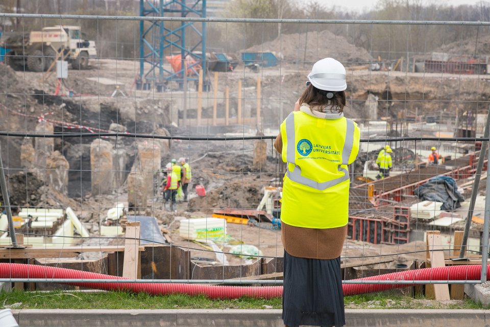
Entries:
<svg viewBox="0 0 490 327">
<path fill-rule="evenodd" d="M 437 176 L 413 190 L 421 200 L 443 202 L 441 210 L 451 211 L 459 208 L 464 198 L 458 192 L 456 181 L 449 176 Z"/>
</svg>

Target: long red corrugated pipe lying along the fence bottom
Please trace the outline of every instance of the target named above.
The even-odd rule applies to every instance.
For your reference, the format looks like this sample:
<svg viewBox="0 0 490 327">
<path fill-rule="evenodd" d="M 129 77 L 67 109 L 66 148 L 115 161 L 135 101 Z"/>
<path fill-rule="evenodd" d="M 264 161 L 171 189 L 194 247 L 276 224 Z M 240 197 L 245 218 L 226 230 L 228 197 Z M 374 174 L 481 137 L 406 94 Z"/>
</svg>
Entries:
<svg viewBox="0 0 490 327">
<path fill-rule="evenodd" d="M 490 265 L 487 266 L 490 271 Z M 424 268 L 394 272 L 379 276 L 355 279 L 356 281 L 473 281 L 480 279 L 481 266 L 464 265 L 440 268 Z M 83 279 L 129 279 L 118 276 L 98 274 L 81 270 L 0 263 L 0 278 L 83 278 Z M 218 282 L 218 281 L 217 281 Z M 204 294 L 212 299 L 234 299 L 242 296 L 273 298 L 282 296 L 282 286 L 215 286 L 199 284 L 161 284 L 161 283 L 62 283 L 100 290 L 146 292 L 153 295 L 163 294 Z M 378 292 L 408 287 L 407 284 L 345 284 L 344 295 Z"/>
</svg>

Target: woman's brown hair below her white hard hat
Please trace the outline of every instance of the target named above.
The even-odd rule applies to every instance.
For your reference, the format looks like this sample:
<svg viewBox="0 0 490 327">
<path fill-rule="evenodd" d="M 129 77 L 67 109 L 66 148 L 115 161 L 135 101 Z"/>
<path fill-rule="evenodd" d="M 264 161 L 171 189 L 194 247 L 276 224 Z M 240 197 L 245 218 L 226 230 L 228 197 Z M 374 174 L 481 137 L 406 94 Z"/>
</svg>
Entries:
<svg viewBox="0 0 490 327">
<path fill-rule="evenodd" d="M 327 98 L 328 93 L 333 93 L 333 98 Z M 343 112 L 346 106 L 346 92 L 345 91 L 325 91 L 314 87 L 312 84 L 308 85 L 300 97 L 300 105 L 306 103 L 313 109 L 325 112 L 330 109 L 331 112 Z"/>
</svg>

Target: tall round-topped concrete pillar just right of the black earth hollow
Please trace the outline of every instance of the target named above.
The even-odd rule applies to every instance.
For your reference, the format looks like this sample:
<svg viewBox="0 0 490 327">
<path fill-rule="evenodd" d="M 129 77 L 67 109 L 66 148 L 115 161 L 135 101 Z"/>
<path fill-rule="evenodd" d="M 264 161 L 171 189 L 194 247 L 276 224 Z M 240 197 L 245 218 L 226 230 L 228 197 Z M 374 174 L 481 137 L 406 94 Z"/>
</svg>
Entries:
<svg viewBox="0 0 490 327">
<path fill-rule="evenodd" d="M 90 145 L 90 168 L 92 170 L 92 195 L 111 194 L 113 190 L 114 149 L 110 142 L 100 138 Z"/>
</svg>

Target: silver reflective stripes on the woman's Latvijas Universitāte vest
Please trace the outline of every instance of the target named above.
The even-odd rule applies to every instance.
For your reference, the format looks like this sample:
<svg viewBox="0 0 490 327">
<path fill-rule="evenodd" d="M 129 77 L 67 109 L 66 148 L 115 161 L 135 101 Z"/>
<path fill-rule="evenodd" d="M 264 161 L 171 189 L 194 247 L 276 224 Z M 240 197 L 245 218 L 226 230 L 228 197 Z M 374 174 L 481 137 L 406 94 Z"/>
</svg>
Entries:
<svg viewBox="0 0 490 327">
<path fill-rule="evenodd" d="M 344 142 L 344 149 L 342 149 L 342 164 L 349 165 L 349 157 L 351 156 L 352 147 L 354 145 L 354 122 L 350 119 L 346 119 L 346 139 Z M 287 148 L 286 148 L 286 160 L 289 164 L 295 165 L 295 168 L 290 171 L 289 167 L 286 171 L 286 176 L 297 183 L 310 186 L 310 188 L 316 190 L 326 190 L 335 186 L 341 182 L 349 180 L 349 172 L 338 165 L 338 171 L 343 172 L 344 176 L 326 181 L 317 182 L 301 175 L 301 168 L 296 165 L 296 130 L 295 130 L 295 115 L 291 112 L 286 118 L 286 136 L 287 136 Z"/>
</svg>

